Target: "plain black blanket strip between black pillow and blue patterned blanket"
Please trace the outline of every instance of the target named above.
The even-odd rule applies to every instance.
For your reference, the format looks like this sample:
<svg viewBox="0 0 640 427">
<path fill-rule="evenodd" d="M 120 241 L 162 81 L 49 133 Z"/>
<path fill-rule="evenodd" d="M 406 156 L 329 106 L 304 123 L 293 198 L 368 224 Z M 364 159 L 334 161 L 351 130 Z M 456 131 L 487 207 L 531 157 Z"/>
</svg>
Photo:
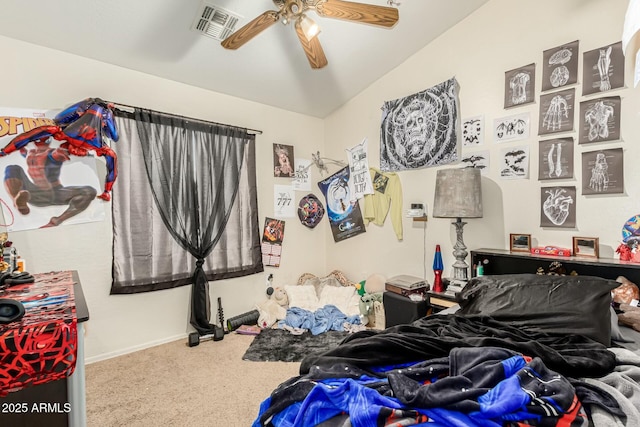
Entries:
<svg viewBox="0 0 640 427">
<path fill-rule="evenodd" d="M 568 377 L 600 377 L 613 370 L 615 356 L 582 335 L 554 335 L 535 327 L 513 327 L 488 316 L 429 316 L 411 325 L 366 330 L 345 338 L 336 348 L 307 356 L 300 374 L 312 366 L 349 364 L 361 368 L 389 366 L 445 357 L 456 347 L 500 347 L 539 357 Z"/>
</svg>

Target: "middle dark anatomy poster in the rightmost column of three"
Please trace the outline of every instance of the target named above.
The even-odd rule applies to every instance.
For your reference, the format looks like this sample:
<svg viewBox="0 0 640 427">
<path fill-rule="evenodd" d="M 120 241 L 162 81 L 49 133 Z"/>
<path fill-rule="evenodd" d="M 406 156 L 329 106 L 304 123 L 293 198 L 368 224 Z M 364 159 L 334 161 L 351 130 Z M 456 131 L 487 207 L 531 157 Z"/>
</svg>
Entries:
<svg viewBox="0 0 640 427">
<path fill-rule="evenodd" d="M 588 144 L 620 139 L 620 105 L 619 96 L 581 102 L 578 143 Z"/>
</svg>

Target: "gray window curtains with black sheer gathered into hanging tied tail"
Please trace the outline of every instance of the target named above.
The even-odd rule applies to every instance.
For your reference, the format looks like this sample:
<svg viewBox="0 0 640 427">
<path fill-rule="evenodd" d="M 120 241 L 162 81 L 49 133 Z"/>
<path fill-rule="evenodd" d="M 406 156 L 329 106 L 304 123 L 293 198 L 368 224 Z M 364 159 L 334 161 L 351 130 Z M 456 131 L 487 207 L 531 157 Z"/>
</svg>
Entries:
<svg viewBox="0 0 640 427">
<path fill-rule="evenodd" d="M 208 333 L 207 282 L 264 270 L 255 136 L 141 109 L 117 112 L 116 124 L 111 293 L 198 282 L 192 324 L 199 316 Z"/>
</svg>

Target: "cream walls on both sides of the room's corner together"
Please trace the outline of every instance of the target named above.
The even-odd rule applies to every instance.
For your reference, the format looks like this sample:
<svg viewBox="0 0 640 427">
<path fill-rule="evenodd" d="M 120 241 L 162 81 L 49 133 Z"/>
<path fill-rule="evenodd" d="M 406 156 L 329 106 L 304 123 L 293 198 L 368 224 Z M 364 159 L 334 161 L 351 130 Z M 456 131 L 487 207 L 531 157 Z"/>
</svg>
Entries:
<svg viewBox="0 0 640 427">
<path fill-rule="evenodd" d="M 463 118 L 484 114 L 488 126 L 494 118 L 529 111 L 531 127 L 537 129 L 537 102 L 503 109 L 504 72 L 536 62 L 536 99 L 539 99 L 542 74 L 539 65 L 543 50 L 576 39 L 580 40 L 581 52 L 619 41 L 626 3 L 626 0 L 492 0 L 326 120 L 0 37 L 5 58 L 0 67 L 0 79 L 4 83 L 0 106 L 59 109 L 85 97 L 101 97 L 261 129 L 264 133 L 257 138 L 257 176 L 262 227 L 264 217 L 273 214 L 273 184 L 286 182 L 272 176 L 273 143 L 294 145 L 297 157 L 309 158 L 311 152 L 320 150 L 329 157 L 344 158 L 345 148 L 367 137 L 372 164 L 379 164 L 382 103 L 424 90 L 452 76 L 460 84 Z M 627 61 L 626 81 L 632 85 L 630 60 Z M 580 93 L 578 90 L 578 102 L 583 99 Z M 536 179 L 537 167 L 531 165 L 532 178 L 528 180 L 501 180 L 497 165 L 500 147 L 491 142 L 487 128 L 482 149 L 490 149 L 494 157 L 490 174 L 483 178 L 485 216 L 469 220 L 465 227 L 465 242 L 469 249 L 508 248 L 509 233 L 514 232 L 532 234 L 536 245 L 566 247 L 571 246 L 572 236 L 581 235 L 600 237 L 603 256 L 613 257 L 623 222 L 640 211 L 640 171 L 634 167 L 634 160 L 640 154 L 635 138 L 640 134 L 637 120 L 640 95 L 631 88 L 611 94 L 623 98 L 623 141 L 589 146 L 588 149 L 624 148 L 625 194 L 579 195 L 576 229 L 543 229 L 539 226 L 541 183 Z M 572 135 L 576 136 L 575 133 Z M 528 141 L 534 161 L 538 140 L 532 136 Z M 575 151 L 578 166 L 583 147 L 576 147 Z M 431 214 L 436 169 L 400 173 L 404 209 L 411 202 L 423 202 Z M 317 170 L 312 169 L 312 172 L 313 190 L 319 195 L 315 182 L 321 177 Z M 575 179 L 563 183 L 579 189 L 578 168 Z M 302 195 L 297 194 L 298 197 Z M 191 330 L 188 286 L 139 295 L 109 295 L 112 236 L 108 207 L 105 205 L 107 218 L 100 223 L 10 235 L 20 254 L 28 260 L 30 271 L 78 270 L 91 316 L 86 336 L 89 362 L 184 337 Z M 292 218 L 286 223 L 282 266 L 277 269 L 267 267 L 260 275 L 212 282 L 212 301 L 222 297 L 227 317 L 244 313 L 264 298 L 265 279 L 269 273 L 274 274 L 275 285 L 291 283 L 304 272 L 324 275 L 334 269 L 343 270 L 354 280 L 362 280 L 372 273 L 424 275 L 432 280 L 431 263 L 436 244 L 442 245 L 445 275 L 448 275 L 455 242 L 449 222 L 429 218 L 425 224 L 405 219 L 404 240 L 398 242 L 390 220 L 387 220 L 382 227 L 371 225 L 365 234 L 336 244 L 327 221 L 309 230 Z"/>
</svg>

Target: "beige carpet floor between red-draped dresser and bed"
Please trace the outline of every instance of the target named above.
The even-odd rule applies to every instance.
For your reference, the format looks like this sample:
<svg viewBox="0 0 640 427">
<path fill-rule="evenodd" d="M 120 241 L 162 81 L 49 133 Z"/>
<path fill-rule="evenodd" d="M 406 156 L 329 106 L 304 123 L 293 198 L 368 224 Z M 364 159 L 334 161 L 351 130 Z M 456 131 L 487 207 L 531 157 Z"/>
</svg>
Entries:
<svg viewBox="0 0 640 427">
<path fill-rule="evenodd" d="M 230 333 L 188 347 L 185 338 L 87 365 L 87 425 L 250 426 L 260 403 L 300 367 L 242 360 L 252 340 Z"/>
</svg>

